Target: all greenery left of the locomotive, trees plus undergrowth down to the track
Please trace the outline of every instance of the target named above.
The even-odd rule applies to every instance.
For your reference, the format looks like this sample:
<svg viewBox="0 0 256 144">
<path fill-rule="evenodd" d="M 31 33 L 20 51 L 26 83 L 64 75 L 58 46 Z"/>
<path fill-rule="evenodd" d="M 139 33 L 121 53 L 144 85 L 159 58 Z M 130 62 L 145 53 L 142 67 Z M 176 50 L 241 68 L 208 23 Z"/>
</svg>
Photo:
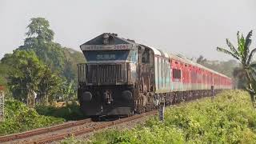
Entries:
<svg viewBox="0 0 256 144">
<path fill-rule="evenodd" d="M 83 54 L 54 42 L 45 18 L 31 18 L 27 29 L 24 45 L 0 61 L 0 86 L 6 87 L 7 99 L 1 135 L 83 118 L 78 104 L 68 103 L 76 100 L 76 66 L 84 62 Z M 66 106 L 54 107 L 59 100 Z"/>
</svg>

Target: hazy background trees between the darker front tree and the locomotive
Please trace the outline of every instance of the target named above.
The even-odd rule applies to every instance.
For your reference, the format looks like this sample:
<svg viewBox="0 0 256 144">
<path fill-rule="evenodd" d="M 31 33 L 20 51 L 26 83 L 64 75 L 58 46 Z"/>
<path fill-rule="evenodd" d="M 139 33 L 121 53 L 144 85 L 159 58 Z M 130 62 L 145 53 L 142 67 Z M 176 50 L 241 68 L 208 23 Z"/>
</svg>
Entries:
<svg viewBox="0 0 256 144">
<path fill-rule="evenodd" d="M 83 54 L 54 42 L 54 31 L 45 18 L 31 18 L 27 29 L 24 45 L 18 50 L 33 50 L 50 70 L 59 71 L 68 82 L 76 79 L 76 64 L 85 62 Z"/>
</svg>

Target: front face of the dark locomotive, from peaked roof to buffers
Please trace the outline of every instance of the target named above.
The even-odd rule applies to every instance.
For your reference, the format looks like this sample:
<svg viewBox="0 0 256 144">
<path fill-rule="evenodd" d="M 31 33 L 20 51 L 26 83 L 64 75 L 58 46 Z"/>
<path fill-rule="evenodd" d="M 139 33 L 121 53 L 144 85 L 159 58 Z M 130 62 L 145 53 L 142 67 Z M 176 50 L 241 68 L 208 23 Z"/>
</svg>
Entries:
<svg viewBox="0 0 256 144">
<path fill-rule="evenodd" d="M 87 116 L 129 115 L 134 110 L 138 49 L 117 34 L 101 34 L 80 46 L 78 100 Z"/>
</svg>

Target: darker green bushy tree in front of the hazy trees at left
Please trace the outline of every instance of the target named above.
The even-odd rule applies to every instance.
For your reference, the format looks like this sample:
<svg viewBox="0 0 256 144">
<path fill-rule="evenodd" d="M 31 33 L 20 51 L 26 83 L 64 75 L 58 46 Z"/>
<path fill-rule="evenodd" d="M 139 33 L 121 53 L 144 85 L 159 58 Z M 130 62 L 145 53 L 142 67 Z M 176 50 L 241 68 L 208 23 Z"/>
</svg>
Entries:
<svg viewBox="0 0 256 144">
<path fill-rule="evenodd" d="M 7 84 L 14 98 L 27 106 L 35 106 L 35 100 L 42 104 L 52 102 L 52 97 L 61 91 L 62 78 L 39 61 L 34 51 L 14 50 L 14 54 L 2 58 L 2 63 L 11 67 Z"/>
</svg>

